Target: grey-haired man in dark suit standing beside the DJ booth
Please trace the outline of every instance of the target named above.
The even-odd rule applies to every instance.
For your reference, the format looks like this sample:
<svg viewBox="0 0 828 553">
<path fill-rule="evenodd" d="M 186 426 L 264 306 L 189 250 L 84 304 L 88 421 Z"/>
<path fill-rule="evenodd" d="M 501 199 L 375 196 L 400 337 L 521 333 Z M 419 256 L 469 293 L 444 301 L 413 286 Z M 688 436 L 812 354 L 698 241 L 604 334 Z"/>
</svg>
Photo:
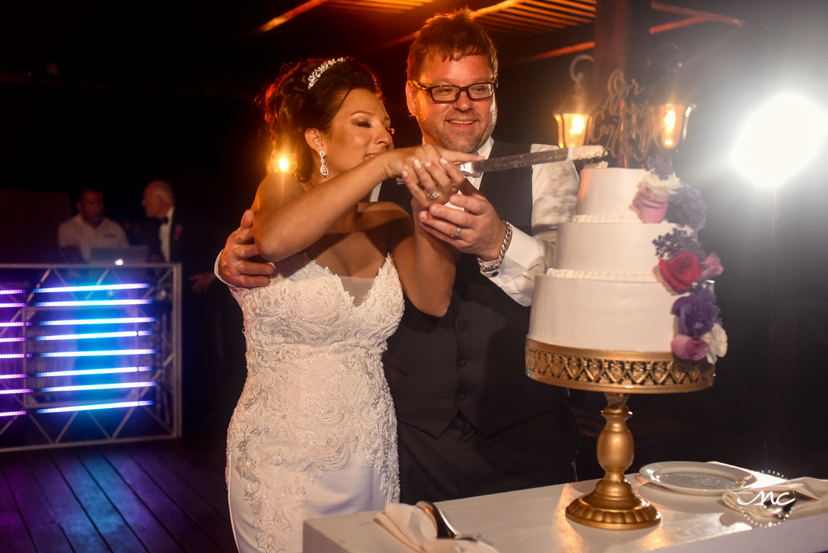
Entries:
<svg viewBox="0 0 828 553">
<path fill-rule="evenodd" d="M 152 257 L 181 263 L 184 432 L 200 436 L 222 426 L 217 406 L 227 403 L 222 384 L 226 368 L 219 363 L 217 348 L 221 291 L 211 270 L 221 238 L 204 215 L 176 205 L 166 180 L 153 180 L 144 188 L 142 205 L 147 217 L 160 223 L 148 237 Z"/>
</svg>

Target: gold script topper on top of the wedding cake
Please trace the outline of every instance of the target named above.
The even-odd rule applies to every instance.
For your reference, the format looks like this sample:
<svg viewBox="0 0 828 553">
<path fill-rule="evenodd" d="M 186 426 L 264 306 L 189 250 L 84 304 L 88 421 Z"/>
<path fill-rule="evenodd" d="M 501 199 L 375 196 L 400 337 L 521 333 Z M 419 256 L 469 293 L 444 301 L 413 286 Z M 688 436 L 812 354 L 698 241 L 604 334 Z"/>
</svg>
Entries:
<svg viewBox="0 0 828 553">
<path fill-rule="evenodd" d="M 644 89 L 635 79 L 625 81 L 622 70 L 614 70 L 609 75 L 607 90 L 609 96 L 592 119 L 590 142 L 597 144 L 607 137 L 604 147 L 619 162 L 630 157 L 644 161 L 659 130 L 657 108 L 646 99 L 643 103 L 633 101 Z"/>
</svg>

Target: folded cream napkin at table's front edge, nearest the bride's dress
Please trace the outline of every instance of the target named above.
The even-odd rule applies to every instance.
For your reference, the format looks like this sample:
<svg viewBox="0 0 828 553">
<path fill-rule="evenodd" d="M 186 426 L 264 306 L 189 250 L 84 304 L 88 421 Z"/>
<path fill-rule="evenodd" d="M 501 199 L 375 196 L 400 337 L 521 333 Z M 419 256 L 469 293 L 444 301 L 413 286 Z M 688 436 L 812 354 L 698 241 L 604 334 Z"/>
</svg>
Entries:
<svg viewBox="0 0 828 553">
<path fill-rule="evenodd" d="M 414 551 L 426 553 L 498 553 L 482 541 L 437 539 L 437 524 L 420 507 L 405 503 L 388 503 L 377 520 L 397 540 Z"/>
</svg>

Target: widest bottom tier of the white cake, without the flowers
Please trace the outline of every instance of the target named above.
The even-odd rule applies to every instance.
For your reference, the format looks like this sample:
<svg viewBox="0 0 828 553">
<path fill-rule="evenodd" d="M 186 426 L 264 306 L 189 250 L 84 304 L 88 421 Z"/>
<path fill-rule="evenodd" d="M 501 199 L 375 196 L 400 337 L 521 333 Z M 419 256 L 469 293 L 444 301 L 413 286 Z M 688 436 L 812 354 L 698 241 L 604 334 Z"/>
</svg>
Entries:
<svg viewBox="0 0 828 553">
<path fill-rule="evenodd" d="M 678 297 L 661 282 L 537 276 L 528 337 L 569 348 L 669 352 Z"/>
</svg>

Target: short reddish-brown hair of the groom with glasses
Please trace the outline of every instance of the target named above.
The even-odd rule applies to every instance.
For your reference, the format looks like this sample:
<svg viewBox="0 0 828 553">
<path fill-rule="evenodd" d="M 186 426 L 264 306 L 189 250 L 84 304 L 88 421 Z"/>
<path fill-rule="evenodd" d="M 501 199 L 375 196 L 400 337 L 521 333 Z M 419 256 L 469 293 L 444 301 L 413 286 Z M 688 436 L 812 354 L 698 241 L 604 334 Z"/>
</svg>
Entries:
<svg viewBox="0 0 828 553">
<path fill-rule="evenodd" d="M 416 32 L 408 49 L 408 79 L 418 79 L 426 60 L 433 55 L 454 61 L 467 55 L 482 55 L 489 60 L 494 78 L 498 77 L 498 51 L 484 28 L 474 22 L 469 7 L 431 17 Z"/>
</svg>

